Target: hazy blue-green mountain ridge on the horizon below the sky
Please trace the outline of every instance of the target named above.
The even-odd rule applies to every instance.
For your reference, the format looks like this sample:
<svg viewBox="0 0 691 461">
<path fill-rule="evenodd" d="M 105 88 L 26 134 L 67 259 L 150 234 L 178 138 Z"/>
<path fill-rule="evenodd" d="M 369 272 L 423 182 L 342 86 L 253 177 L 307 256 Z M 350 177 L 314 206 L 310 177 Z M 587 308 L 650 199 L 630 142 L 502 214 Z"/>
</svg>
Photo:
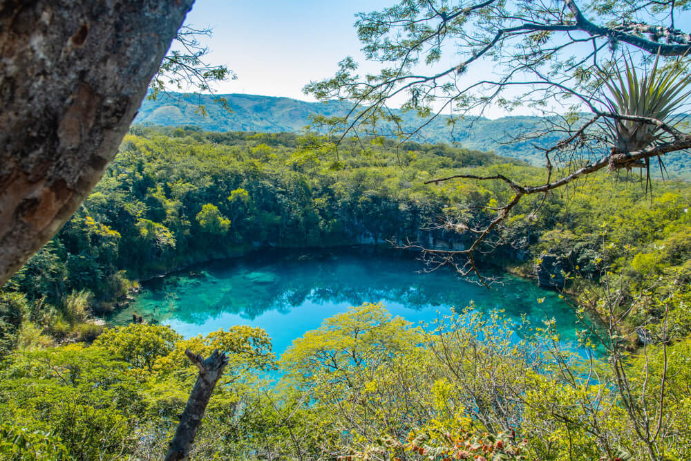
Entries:
<svg viewBox="0 0 691 461">
<path fill-rule="evenodd" d="M 225 97 L 231 113 L 214 102 Z M 198 113 L 205 106 L 207 115 Z M 279 133 L 300 131 L 310 123 L 310 115 L 342 115 L 349 106 L 342 102 L 306 102 L 287 97 L 259 95 L 191 95 L 169 93 L 156 100 L 144 100 L 135 118 L 135 124 L 162 126 L 199 126 L 207 131 L 260 131 Z M 404 125 L 417 126 L 419 119 L 410 113 L 402 114 Z M 506 144 L 521 133 L 539 129 L 542 117 L 515 116 L 495 120 L 478 118 L 456 122 L 452 127 L 448 117 L 439 117 L 422 131 L 418 141 L 459 143 L 468 149 L 494 151 L 500 156 L 517 158 L 531 164 L 545 163 L 544 154 L 533 146 L 533 141 Z M 536 141 L 540 147 L 552 146 L 560 140 L 558 134 L 549 134 Z M 672 174 L 691 178 L 691 156 L 674 153 L 665 158 Z"/>
</svg>

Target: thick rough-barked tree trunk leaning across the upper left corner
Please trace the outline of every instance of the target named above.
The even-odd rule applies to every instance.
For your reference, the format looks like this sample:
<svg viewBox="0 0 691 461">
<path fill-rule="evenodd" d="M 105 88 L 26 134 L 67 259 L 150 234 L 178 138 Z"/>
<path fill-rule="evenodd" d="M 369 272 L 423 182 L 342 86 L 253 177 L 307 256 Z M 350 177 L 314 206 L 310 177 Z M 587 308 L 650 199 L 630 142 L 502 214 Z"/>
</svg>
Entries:
<svg viewBox="0 0 691 461">
<path fill-rule="evenodd" d="M 193 0 L 0 0 L 0 286 L 115 156 Z"/>
</svg>

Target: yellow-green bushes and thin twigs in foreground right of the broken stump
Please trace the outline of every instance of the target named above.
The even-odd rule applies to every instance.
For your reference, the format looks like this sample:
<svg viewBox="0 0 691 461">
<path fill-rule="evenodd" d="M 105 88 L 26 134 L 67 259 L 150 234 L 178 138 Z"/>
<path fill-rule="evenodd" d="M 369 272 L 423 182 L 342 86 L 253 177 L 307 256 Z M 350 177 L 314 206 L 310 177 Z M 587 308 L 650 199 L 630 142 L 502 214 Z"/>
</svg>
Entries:
<svg viewBox="0 0 691 461">
<path fill-rule="evenodd" d="M 500 314 L 482 317 L 471 306 L 420 330 L 393 319 L 381 305 L 351 308 L 294 341 L 281 359 L 285 375 L 272 405 L 256 402 L 272 429 L 257 423 L 258 408 L 250 427 L 269 431 L 263 435 L 269 438 L 272 431 L 287 429 L 292 443 L 270 438 L 269 445 L 281 446 L 278 453 L 288 458 L 325 452 L 341 460 L 649 455 L 621 406 L 604 357 L 584 360 L 561 348 L 549 321 L 545 328 L 524 330 L 523 339 L 504 322 Z M 668 396 L 680 393 L 685 399 L 685 375 L 676 368 L 685 363 L 685 347 L 668 350 L 666 365 L 660 347 L 640 356 L 647 365 L 630 369 L 636 399 L 656 398 L 662 366 L 681 373 L 665 383 Z M 591 379 L 594 375 L 598 379 Z M 646 393 L 638 379 L 653 375 Z M 281 418 L 282 411 L 289 413 Z M 671 458 L 683 459 L 688 412 L 667 411 L 661 445 Z M 305 412 L 322 424 L 301 424 Z M 318 435 L 316 444 L 309 434 Z M 271 453 L 266 445 L 262 449 Z"/>
</svg>

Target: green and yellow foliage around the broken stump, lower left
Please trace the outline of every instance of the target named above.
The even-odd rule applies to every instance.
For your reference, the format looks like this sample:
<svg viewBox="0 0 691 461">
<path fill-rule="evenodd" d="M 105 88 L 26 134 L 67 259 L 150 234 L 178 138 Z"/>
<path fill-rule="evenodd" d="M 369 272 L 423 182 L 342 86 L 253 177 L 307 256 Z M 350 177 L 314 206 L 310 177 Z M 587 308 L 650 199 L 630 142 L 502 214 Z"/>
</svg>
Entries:
<svg viewBox="0 0 691 461">
<path fill-rule="evenodd" d="M 207 409 L 209 421 L 218 424 L 237 418 L 258 385 L 256 373 L 272 366 L 271 346 L 258 329 L 238 327 L 182 341 L 167 328 L 135 327 L 106 330 L 92 346 L 16 352 L 3 361 L 3 459 L 160 457 L 196 377 L 189 361 L 180 359 L 180 349 L 201 343 L 231 352 L 232 364 Z M 153 360 L 156 366 L 149 366 Z M 202 436 L 215 438 L 210 431 L 202 430 Z M 205 453 L 203 444 L 198 450 L 199 458 L 218 451 Z"/>
</svg>

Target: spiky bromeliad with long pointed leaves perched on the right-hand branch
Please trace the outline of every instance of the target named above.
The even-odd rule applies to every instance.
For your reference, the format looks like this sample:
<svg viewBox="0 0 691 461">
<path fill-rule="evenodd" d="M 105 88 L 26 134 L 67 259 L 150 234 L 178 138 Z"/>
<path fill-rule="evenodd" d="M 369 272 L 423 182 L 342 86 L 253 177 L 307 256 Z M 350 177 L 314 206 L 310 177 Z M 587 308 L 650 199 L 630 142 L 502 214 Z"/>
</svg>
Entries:
<svg viewBox="0 0 691 461">
<path fill-rule="evenodd" d="M 617 74 L 605 81 L 610 97 L 605 104 L 614 115 L 635 115 L 669 122 L 686 98 L 691 77 L 685 74 L 688 64 L 658 68 L 656 57 L 650 73 L 639 77 L 632 62 L 624 58 L 625 69 L 617 67 Z M 612 135 L 615 149 L 633 152 L 659 140 L 665 134 L 658 126 L 632 120 L 607 119 L 607 128 Z"/>
</svg>

